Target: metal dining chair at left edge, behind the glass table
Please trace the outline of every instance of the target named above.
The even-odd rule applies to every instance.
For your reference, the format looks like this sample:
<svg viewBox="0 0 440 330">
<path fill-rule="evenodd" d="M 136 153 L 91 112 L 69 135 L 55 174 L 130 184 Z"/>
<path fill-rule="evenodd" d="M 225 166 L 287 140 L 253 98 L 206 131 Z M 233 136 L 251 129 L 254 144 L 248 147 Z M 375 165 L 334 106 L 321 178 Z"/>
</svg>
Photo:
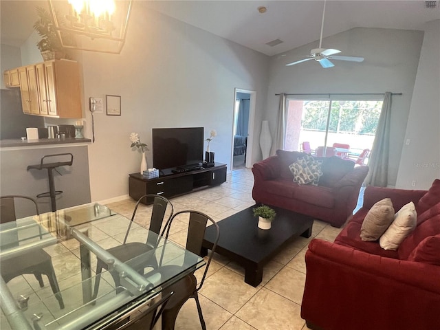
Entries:
<svg viewBox="0 0 440 330">
<path fill-rule="evenodd" d="M 39 206 L 35 199 L 21 195 L 8 195 L 1 196 L 1 210 L 0 210 L 0 223 L 6 223 L 10 221 L 16 221 L 15 212 L 15 200 L 29 200 L 32 201 L 35 207 L 36 215 L 40 215 Z M 17 243 L 18 245 L 18 243 Z M 56 275 L 54 271 L 54 265 L 52 265 L 52 258 L 43 249 L 34 249 L 26 254 L 19 256 L 13 256 L 10 259 L 0 261 L 1 277 L 8 283 L 17 276 L 23 274 L 34 274 L 37 281 L 39 281 L 40 287 L 44 287 L 43 277 L 44 274 L 49 280 L 52 292 L 55 294 L 55 298 L 58 300 L 58 304 L 61 309 L 64 309 L 63 297 L 60 293 L 58 281 L 56 281 Z"/>
</svg>

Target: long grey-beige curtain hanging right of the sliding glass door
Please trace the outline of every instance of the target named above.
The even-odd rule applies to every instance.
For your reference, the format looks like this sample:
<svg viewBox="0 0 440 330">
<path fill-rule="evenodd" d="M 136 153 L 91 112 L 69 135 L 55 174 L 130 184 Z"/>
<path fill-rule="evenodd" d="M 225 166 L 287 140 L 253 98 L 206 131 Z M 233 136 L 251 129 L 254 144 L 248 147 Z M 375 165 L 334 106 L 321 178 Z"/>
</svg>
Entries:
<svg viewBox="0 0 440 330">
<path fill-rule="evenodd" d="M 365 185 L 386 187 L 388 185 L 388 159 L 390 151 L 391 126 L 391 92 L 387 91 L 382 104 L 376 136 L 369 158 L 369 174 L 366 175 Z"/>
</svg>

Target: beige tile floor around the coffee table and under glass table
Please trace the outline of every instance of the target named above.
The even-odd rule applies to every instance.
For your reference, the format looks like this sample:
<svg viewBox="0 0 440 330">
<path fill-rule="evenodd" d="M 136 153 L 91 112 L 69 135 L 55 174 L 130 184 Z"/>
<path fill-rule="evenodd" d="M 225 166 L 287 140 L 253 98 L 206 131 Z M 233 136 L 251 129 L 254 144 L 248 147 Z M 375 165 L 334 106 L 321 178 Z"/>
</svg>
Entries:
<svg viewBox="0 0 440 330">
<path fill-rule="evenodd" d="M 227 181 L 221 186 L 208 188 L 171 199 L 175 212 L 179 210 L 199 210 L 210 215 L 215 221 L 239 212 L 254 205 L 252 199 L 253 175 L 250 169 L 234 170 L 228 174 Z M 108 206 L 125 217 L 131 218 L 135 201 L 127 199 Z M 148 228 L 148 215 L 151 206 L 141 204 L 137 211 L 135 222 Z M 186 242 L 186 219 L 176 218 L 170 232 L 170 239 L 184 245 Z M 113 228 L 114 229 L 114 228 Z M 142 229 L 142 228 L 141 228 Z M 124 230 L 123 230 L 124 232 Z M 340 229 L 315 221 L 312 236 L 309 239 L 299 237 L 288 245 L 285 250 L 268 263 L 263 272 L 263 282 L 258 287 L 252 287 L 244 282 L 243 268 L 215 254 L 208 271 L 208 277 L 199 298 L 209 330 L 266 330 L 266 329 L 308 329 L 305 321 L 300 318 L 300 304 L 305 284 L 305 252 L 312 238 L 318 237 L 333 241 Z M 119 245 L 123 234 L 113 230 L 105 231 L 96 227 L 94 239 L 104 248 Z M 63 274 L 56 274 L 61 289 L 72 286 L 72 281 L 80 281 L 80 262 L 78 243 L 74 240 L 65 241 L 46 248 L 54 263 L 63 264 Z M 96 261 L 92 270 L 96 267 Z M 197 271 L 201 276 L 203 269 Z M 50 296 L 47 285 L 40 288 L 31 275 L 19 276 L 8 283 L 8 287 L 16 294 L 26 296 Z M 38 299 L 34 299 L 38 301 Z M 56 301 L 53 302 L 57 304 Z M 43 304 L 40 304 L 43 305 Z M 43 310 L 44 306 L 38 306 Z M 49 314 L 50 315 L 50 314 Z M 5 319 L 1 318 L 0 329 L 9 329 Z M 197 308 L 193 299 L 182 307 L 177 318 L 176 328 L 179 330 L 201 329 Z"/>
</svg>

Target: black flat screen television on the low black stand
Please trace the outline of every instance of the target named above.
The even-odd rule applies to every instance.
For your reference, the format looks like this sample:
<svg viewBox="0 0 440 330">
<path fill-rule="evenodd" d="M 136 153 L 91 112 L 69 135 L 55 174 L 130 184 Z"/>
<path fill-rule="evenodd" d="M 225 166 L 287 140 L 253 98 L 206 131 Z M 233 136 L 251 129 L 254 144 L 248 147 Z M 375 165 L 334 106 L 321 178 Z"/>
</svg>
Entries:
<svg viewBox="0 0 440 330">
<path fill-rule="evenodd" d="M 203 162 L 203 127 L 153 129 L 153 166 L 159 170 Z"/>
</svg>

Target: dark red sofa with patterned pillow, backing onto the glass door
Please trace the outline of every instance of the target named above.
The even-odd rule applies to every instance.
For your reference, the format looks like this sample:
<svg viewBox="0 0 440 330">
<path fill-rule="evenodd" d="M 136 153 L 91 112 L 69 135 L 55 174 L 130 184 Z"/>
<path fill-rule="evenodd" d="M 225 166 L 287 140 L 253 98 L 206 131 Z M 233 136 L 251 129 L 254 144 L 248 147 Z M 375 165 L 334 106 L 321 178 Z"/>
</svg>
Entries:
<svg viewBox="0 0 440 330">
<path fill-rule="evenodd" d="M 252 198 L 257 203 L 306 214 L 334 227 L 340 227 L 351 217 L 368 166 L 354 167 L 353 162 L 339 157 L 314 157 L 322 162 L 318 186 L 298 185 L 289 165 L 305 153 L 278 150 L 276 154 L 252 168 Z"/>
</svg>

